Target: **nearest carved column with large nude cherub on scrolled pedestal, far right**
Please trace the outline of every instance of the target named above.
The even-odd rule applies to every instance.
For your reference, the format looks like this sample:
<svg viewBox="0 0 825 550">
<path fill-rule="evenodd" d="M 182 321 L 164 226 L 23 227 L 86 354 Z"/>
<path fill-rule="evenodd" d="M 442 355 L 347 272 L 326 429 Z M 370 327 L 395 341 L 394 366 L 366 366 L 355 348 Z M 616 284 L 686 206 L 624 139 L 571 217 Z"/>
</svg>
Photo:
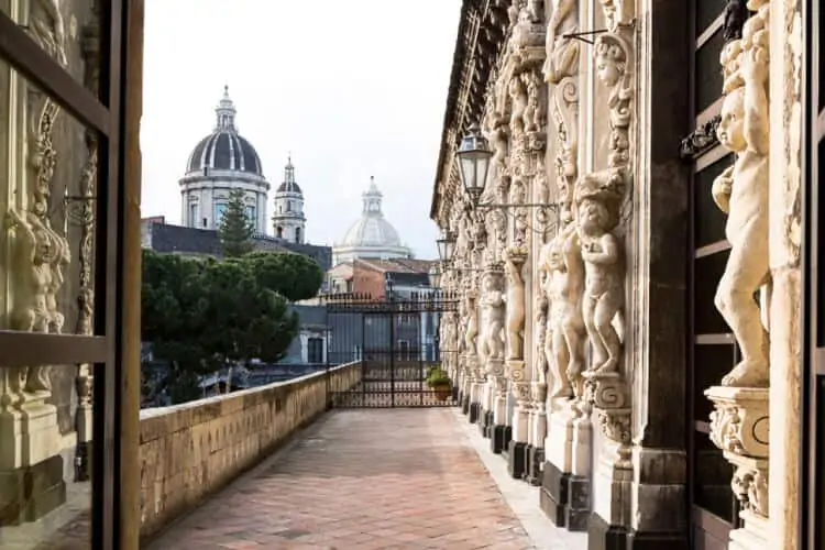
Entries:
<svg viewBox="0 0 825 550">
<path fill-rule="evenodd" d="M 741 550 L 769 547 L 768 425 L 774 353 L 769 353 L 768 331 L 791 321 L 768 315 L 773 294 L 770 249 L 784 244 L 780 235 L 787 227 L 782 223 L 777 233 L 769 229 L 774 216 L 771 198 L 776 196 L 769 163 L 771 6 L 768 0 L 750 0 L 747 8 L 755 13 L 743 25 L 741 37 L 725 45 L 721 59 L 724 103 L 717 133 L 736 161 L 713 185 L 714 200 L 728 215 L 725 229 L 730 242 L 715 302 L 736 337 L 741 361 L 719 381 L 721 386 L 705 392 L 714 404 L 711 439 L 735 468 L 732 487 L 741 503 L 741 527 L 730 531 L 729 548 Z M 771 234 L 780 239 L 772 242 Z M 754 300 L 757 294 L 758 304 Z M 779 332 L 788 334 L 788 329 Z"/>
</svg>

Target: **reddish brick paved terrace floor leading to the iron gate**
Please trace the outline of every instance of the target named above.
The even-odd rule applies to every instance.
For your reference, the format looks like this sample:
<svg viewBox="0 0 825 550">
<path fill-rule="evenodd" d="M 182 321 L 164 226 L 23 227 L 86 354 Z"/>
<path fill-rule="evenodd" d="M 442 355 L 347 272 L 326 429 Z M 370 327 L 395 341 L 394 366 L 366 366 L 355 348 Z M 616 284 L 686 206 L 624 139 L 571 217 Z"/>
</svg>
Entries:
<svg viewBox="0 0 825 550">
<path fill-rule="evenodd" d="M 339 410 L 151 550 L 529 549 L 449 409 Z"/>
</svg>

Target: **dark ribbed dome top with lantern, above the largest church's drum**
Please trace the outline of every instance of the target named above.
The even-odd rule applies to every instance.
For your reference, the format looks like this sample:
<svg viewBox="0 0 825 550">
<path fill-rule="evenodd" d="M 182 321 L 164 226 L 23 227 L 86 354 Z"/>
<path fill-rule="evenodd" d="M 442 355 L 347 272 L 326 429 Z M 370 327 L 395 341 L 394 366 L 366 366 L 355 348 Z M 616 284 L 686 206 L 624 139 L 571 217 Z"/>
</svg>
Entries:
<svg viewBox="0 0 825 550">
<path fill-rule="evenodd" d="M 223 98 L 215 112 L 218 119 L 215 131 L 195 146 L 189 155 L 186 173 L 208 173 L 216 169 L 263 176 L 257 151 L 235 128 L 237 111 L 229 98 L 229 87 L 223 88 Z"/>
</svg>

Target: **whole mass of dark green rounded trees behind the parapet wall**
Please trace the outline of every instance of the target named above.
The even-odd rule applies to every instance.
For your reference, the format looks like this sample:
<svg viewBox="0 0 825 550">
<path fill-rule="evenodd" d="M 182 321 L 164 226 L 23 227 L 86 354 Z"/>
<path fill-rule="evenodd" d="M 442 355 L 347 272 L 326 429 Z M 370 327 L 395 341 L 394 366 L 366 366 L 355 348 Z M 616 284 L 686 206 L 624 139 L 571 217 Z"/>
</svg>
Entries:
<svg viewBox="0 0 825 550">
<path fill-rule="evenodd" d="M 193 398 L 198 376 L 280 360 L 298 330 L 289 301 L 315 296 L 322 279 L 320 266 L 298 254 L 218 262 L 144 250 L 142 339 L 168 364 L 167 392 Z"/>
</svg>

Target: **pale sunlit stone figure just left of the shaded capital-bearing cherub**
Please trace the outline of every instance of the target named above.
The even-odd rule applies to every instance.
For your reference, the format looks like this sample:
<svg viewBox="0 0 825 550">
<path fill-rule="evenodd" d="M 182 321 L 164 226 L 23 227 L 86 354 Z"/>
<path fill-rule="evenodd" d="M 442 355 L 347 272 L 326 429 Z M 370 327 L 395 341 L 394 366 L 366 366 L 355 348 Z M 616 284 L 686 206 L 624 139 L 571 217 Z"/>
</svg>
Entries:
<svg viewBox="0 0 825 550">
<path fill-rule="evenodd" d="M 581 395 L 579 386 L 584 370 L 584 264 L 569 210 L 562 212 L 562 223 L 561 232 L 541 252 L 542 267 L 548 273 L 543 288 L 550 304 L 547 353 L 553 369 L 550 395 L 554 398 Z"/>
</svg>

